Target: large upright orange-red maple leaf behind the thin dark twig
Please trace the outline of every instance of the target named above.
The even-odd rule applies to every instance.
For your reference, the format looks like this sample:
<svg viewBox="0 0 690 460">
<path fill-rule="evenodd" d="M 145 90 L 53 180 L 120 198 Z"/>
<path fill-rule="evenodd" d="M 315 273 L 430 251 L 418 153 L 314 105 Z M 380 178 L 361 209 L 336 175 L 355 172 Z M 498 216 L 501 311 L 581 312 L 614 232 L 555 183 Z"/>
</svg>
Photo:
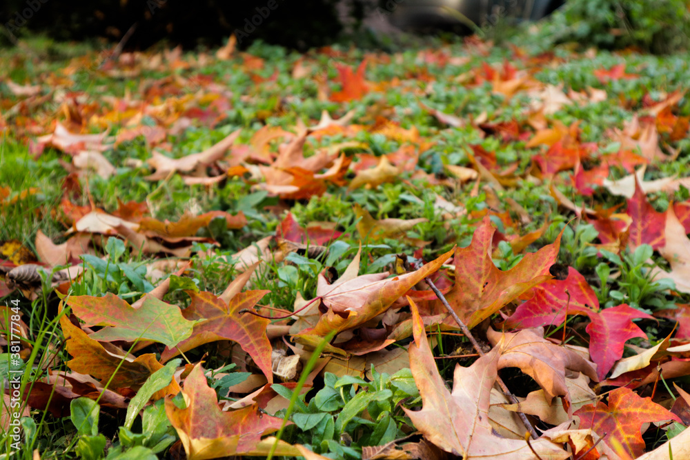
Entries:
<svg viewBox="0 0 690 460">
<path fill-rule="evenodd" d="M 455 252 L 455 285 L 446 294 L 446 299 L 469 328 L 534 286 L 551 279 L 549 267 L 558 256 L 560 234 L 554 243 L 538 252 L 525 254 L 520 263 L 503 272 L 491 259 L 494 232 L 491 220 L 484 217 L 470 246 Z"/>
</svg>

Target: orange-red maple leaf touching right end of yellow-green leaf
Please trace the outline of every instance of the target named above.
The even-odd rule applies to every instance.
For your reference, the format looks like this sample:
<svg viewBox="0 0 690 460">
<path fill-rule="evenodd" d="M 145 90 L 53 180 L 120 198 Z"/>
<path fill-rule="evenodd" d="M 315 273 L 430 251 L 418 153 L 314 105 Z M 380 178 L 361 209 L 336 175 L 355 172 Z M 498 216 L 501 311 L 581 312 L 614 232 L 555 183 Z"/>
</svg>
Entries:
<svg viewBox="0 0 690 460">
<path fill-rule="evenodd" d="M 191 336 L 174 347 L 166 348 L 161 354 L 161 361 L 166 362 L 179 353 L 184 353 L 204 343 L 219 340 L 232 340 L 239 343 L 259 368 L 266 374 L 268 382 L 273 381 L 271 371 L 271 346 L 266 337 L 266 326 L 270 320 L 253 314 L 240 314 L 240 310 L 253 308 L 268 290 L 250 290 L 239 292 L 251 277 L 254 268 L 250 268 L 233 280 L 228 286 L 235 294 L 228 300 L 216 297 L 211 292 L 187 291 L 192 298 L 190 306 L 182 311 L 184 317 L 196 321 Z M 227 296 L 226 296 L 227 297 Z"/>
</svg>

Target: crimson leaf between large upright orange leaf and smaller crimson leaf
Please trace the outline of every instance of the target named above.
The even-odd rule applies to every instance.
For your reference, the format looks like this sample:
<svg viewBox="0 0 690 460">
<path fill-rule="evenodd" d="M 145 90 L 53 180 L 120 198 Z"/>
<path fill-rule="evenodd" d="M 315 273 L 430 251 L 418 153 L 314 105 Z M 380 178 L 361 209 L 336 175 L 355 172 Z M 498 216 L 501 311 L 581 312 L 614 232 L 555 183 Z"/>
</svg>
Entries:
<svg viewBox="0 0 690 460">
<path fill-rule="evenodd" d="M 506 320 L 507 328 L 536 328 L 561 324 L 567 314 L 595 313 L 599 310 L 599 299 L 586 279 L 568 268 L 564 280 L 551 279 L 532 289 L 533 297 L 522 303 Z"/>
</svg>

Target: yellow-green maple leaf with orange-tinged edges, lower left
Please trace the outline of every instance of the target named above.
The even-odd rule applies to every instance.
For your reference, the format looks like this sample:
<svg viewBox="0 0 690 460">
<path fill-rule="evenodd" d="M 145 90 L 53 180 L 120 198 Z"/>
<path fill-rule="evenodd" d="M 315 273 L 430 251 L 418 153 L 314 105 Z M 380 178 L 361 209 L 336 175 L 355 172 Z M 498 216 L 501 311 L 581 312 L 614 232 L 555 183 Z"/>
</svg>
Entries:
<svg viewBox="0 0 690 460">
<path fill-rule="evenodd" d="M 90 335 L 103 342 L 139 339 L 174 347 L 192 334 L 194 326 L 194 321 L 185 319 L 178 306 L 150 296 L 146 296 L 140 308 L 112 293 L 105 297 L 69 297 L 67 304 L 86 326 L 107 326 Z"/>
</svg>

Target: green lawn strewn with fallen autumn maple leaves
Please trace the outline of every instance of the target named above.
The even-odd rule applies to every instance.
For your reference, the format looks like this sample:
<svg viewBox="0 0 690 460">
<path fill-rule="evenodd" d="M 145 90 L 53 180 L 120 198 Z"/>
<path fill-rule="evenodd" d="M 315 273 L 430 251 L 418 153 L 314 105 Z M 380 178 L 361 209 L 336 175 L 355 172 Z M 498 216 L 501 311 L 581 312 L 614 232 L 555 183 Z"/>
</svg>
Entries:
<svg viewBox="0 0 690 460">
<path fill-rule="evenodd" d="M 487 412 L 467 430 L 497 456 L 528 449 L 511 401 L 489 409 L 497 367 L 543 458 L 564 441 L 541 433 L 571 419 L 594 433 L 573 457 L 683 436 L 687 58 L 526 32 L 3 50 L 0 451 L 266 457 L 289 419 L 275 456 L 389 458 L 372 446 L 396 441 L 446 458 L 478 454 L 450 432 Z M 446 420 L 434 395 L 451 399 L 456 364 Z M 646 406 L 611 433 L 586 417 L 602 397 L 614 424 L 619 399 Z M 649 421 L 669 423 L 640 436 Z"/>
</svg>

